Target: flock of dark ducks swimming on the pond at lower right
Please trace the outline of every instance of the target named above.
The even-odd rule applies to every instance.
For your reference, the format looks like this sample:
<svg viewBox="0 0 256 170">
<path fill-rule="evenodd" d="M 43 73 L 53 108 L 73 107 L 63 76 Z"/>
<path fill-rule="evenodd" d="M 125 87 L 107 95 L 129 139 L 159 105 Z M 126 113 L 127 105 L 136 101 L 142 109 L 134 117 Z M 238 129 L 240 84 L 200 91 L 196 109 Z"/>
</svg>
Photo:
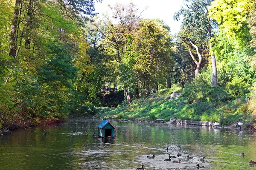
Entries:
<svg viewBox="0 0 256 170">
<path fill-rule="evenodd" d="M 180 145 L 178 146 L 180 148 Z M 167 152 L 169 151 L 168 147 L 165 149 Z M 164 159 L 163 161 L 172 161 L 171 159 L 172 158 L 177 158 L 179 156 L 182 156 L 181 153 L 177 153 L 177 157 L 176 156 L 171 156 L 171 154 L 168 154 L 169 155 L 169 158 L 168 159 Z M 245 156 L 244 153 L 240 153 L 240 156 Z M 155 155 L 153 156 L 147 156 L 148 159 L 155 159 Z M 186 159 L 189 160 L 189 159 L 194 159 L 192 156 L 186 156 Z M 178 160 L 174 160 L 172 161 L 173 163 L 180 163 L 181 160 L 178 159 Z M 195 166 L 195 168 L 197 168 L 198 170 L 201 169 L 201 168 L 205 168 L 204 166 L 201 166 L 199 163 L 203 163 L 205 162 L 205 157 L 201 158 L 201 159 L 198 159 L 198 164 Z M 250 160 L 249 162 L 250 165 L 256 165 L 256 161 L 252 161 Z M 144 170 L 144 167 L 145 165 L 143 164 L 142 167 L 138 167 L 136 168 L 136 170 Z"/>
</svg>

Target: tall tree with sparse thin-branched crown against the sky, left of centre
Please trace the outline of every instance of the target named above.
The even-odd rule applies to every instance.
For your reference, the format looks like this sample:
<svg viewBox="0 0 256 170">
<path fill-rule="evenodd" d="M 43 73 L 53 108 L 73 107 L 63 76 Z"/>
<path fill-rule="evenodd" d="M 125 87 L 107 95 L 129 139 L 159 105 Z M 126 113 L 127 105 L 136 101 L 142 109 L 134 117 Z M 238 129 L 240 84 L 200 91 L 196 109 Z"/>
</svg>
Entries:
<svg viewBox="0 0 256 170">
<path fill-rule="evenodd" d="M 141 13 L 138 8 L 133 3 L 128 5 L 122 5 L 116 3 L 114 7 L 109 6 L 112 11 L 112 18 L 106 17 L 103 20 L 105 27 L 100 28 L 97 26 L 98 30 L 105 37 L 102 41 L 104 49 L 107 55 L 113 58 L 116 62 L 115 72 L 120 74 L 121 80 L 127 102 L 131 102 L 131 91 L 133 87 L 127 84 L 124 77 L 126 77 L 122 71 L 122 59 L 125 56 L 125 52 L 128 47 L 128 37 L 130 37 L 136 31 L 137 23 L 140 21 Z"/>
</svg>

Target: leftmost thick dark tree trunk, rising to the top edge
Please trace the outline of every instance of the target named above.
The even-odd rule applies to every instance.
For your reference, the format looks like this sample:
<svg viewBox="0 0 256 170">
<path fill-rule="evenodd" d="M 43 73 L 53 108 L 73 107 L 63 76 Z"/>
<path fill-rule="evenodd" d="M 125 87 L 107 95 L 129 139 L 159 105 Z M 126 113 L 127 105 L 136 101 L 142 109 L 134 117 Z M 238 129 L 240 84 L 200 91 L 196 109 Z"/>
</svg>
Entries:
<svg viewBox="0 0 256 170">
<path fill-rule="evenodd" d="M 10 34 L 10 51 L 9 55 L 12 56 L 14 59 L 16 59 L 16 31 L 17 31 L 17 21 L 19 16 L 19 6 L 21 4 L 21 0 L 16 0 L 15 3 L 15 10 L 13 14 L 13 20 L 12 20 L 12 28 L 11 28 L 11 34 Z"/>
</svg>

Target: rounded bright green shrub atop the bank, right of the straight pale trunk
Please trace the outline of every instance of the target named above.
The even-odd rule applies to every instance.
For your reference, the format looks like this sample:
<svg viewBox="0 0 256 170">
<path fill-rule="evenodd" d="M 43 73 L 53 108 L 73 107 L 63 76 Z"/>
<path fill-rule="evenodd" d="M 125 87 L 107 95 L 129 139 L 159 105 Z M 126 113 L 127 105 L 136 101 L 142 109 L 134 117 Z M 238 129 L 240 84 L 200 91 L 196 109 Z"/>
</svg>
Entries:
<svg viewBox="0 0 256 170">
<path fill-rule="evenodd" d="M 227 83 L 228 93 L 233 96 L 244 96 L 244 94 L 249 93 L 249 83 L 247 83 L 243 77 L 233 77 L 231 82 Z"/>
</svg>

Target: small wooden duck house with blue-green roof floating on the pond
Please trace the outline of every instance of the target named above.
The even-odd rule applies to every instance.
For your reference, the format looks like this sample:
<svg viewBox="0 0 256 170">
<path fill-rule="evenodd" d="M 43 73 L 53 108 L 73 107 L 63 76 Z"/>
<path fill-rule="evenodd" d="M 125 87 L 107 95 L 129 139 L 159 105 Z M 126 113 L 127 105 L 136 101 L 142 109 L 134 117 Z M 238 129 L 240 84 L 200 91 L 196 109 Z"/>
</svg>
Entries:
<svg viewBox="0 0 256 170">
<path fill-rule="evenodd" d="M 103 120 L 97 127 L 98 128 L 98 135 L 102 138 L 113 138 L 115 134 L 114 127 L 108 120 Z"/>
</svg>

